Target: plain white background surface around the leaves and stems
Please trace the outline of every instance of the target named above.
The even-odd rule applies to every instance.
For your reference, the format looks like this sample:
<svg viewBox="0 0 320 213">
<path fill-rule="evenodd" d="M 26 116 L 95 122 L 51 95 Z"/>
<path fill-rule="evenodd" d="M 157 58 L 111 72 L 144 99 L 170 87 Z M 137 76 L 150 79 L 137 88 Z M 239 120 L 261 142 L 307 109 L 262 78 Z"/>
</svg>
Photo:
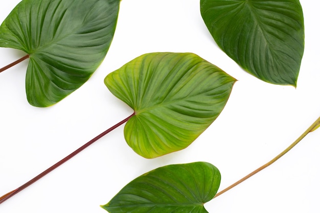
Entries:
<svg viewBox="0 0 320 213">
<path fill-rule="evenodd" d="M 0 22 L 20 2 L 1 1 Z M 150 52 L 192 52 L 238 79 L 218 119 L 185 150 L 145 159 L 127 146 L 123 127 L 0 205 L 1 213 L 106 212 L 129 181 L 173 163 L 210 162 L 220 190 L 275 157 L 320 115 L 320 4 L 301 0 L 305 53 L 298 87 L 262 82 L 245 73 L 216 45 L 199 0 L 122 0 L 115 37 L 95 74 L 49 108 L 27 102 L 28 60 L 0 74 L 0 195 L 33 178 L 132 113 L 113 97 L 104 77 Z M 0 48 L 0 66 L 24 56 Z M 319 212 L 320 130 L 287 155 L 205 204 L 209 212 Z"/>
</svg>

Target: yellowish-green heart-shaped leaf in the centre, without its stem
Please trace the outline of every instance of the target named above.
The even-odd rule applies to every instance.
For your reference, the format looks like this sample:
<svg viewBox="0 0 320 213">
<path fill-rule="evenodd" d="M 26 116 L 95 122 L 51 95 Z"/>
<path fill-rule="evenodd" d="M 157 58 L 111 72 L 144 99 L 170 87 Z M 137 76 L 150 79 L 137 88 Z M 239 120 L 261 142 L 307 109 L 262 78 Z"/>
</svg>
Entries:
<svg viewBox="0 0 320 213">
<path fill-rule="evenodd" d="M 125 139 L 146 158 L 189 146 L 222 111 L 235 81 L 192 53 L 145 54 L 105 78 L 134 110 Z"/>
</svg>

